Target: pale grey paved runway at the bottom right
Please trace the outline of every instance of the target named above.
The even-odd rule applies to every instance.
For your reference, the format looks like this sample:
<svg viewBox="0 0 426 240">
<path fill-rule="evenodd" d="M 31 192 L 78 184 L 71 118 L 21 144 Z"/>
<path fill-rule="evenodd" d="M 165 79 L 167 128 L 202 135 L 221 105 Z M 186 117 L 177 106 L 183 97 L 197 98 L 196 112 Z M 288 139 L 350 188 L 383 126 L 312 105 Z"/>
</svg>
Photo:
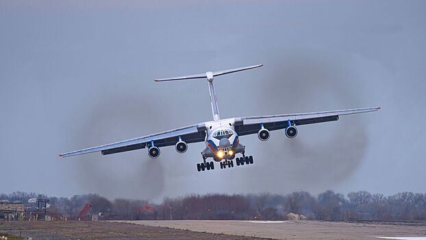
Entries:
<svg viewBox="0 0 426 240">
<path fill-rule="evenodd" d="M 121 221 L 195 232 L 212 232 L 271 239 L 379 239 L 426 237 L 426 222 L 406 221 Z M 410 238 L 408 238 L 410 239 Z M 426 239 L 426 238 L 425 238 Z M 417 238 L 416 240 L 425 240 Z"/>
</svg>

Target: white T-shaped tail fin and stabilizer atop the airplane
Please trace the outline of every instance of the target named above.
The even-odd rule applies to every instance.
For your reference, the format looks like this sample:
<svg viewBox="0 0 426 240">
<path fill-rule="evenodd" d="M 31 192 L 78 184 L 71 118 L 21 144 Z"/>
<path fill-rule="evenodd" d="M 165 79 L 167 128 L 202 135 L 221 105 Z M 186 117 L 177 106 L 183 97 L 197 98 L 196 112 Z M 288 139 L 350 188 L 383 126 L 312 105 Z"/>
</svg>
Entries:
<svg viewBox="0 0 426 240">
<path fill-rule="evenodd" d="M 210 102 L 212 104 L 213 120 L 218 121 L 221 118 L 219 117 L 219 110 L 218 110 L 218 107 L 217 107 L 216 93 L 214 92 L 213 77 L 225 75 L 227 73 L 235 73 L 235 72 L 238 72 L 238 71 L 255 69 L 256 67 L 262 67 L 262 66 L 263 66 L 263 64 L 258 64 L 258 65 L 249 66 L 249 67 L 240 67 L 240 68 L 237 68 L 237 69 L 227 69 L 227 70 L 215 71 L 215 72 L 208 71 L 206 73 L 186 75 L 186 76 L 181 76 L 181 77 L 162 78 L 162 79 L 156 79 L 154 81 L 155 82 L 166 82 L 166 81 L 175 81 L 175 80 L 190 80 L 190 79 L 197 79 L 197 78 L 207 79 L 208 84 L 209 84 Z"/>
</svg>

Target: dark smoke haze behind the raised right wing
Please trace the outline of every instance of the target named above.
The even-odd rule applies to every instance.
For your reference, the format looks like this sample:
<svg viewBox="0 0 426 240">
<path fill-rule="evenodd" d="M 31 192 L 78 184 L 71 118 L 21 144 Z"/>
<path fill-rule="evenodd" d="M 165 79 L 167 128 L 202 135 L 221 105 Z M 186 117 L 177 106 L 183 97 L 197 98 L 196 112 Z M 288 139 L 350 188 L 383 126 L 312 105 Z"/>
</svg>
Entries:
<svg viewBox="0 0 426 240">
<path fill-rule="evenodd" d="M 356 72 L 362 69 L 351 67 L 344 57 L 304 50 L 267 59 L 265 66 L 273 70 L 261 80 L 258 91 L 265 94 L 256 95 L 259 104 L 253 105 L 260 114 L 363 107 L 356 94 L 362 87 L 353 88 L 359 82 Z M 258 166 L 243 173 L 242 178 L 249 181 L 245 191 L 332 188 L 358 168 L 367 136 L 360 116 L 300 126 L 295 139 L 287 139 L 282 131 L 272 132 L 266 144 L 256 144 Z"/>
</svg>

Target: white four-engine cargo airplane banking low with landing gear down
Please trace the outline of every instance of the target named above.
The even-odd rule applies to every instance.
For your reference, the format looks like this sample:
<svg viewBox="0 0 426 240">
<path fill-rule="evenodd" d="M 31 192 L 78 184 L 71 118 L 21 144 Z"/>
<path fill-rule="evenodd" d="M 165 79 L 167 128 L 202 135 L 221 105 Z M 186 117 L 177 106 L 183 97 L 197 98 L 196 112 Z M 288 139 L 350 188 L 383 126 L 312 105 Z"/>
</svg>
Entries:
<svg viewBox="0 0 426 240">
<path fill-rule="evenodd" d="M 240 143 L 240 136 L 258 134 L 260 141 L 266 141 L 270 136 L 269 131 L 284 129 L 286 136 L 292 139 L 297 136 L 298 130 L 296 126 L 298 125 L 337 121 L 341 115 L 374 112 L 380 109 L 380 107 L 356 108 L 323 112 L 221 119 L 218 111 L 216 93 L 213 86 L 214 77 L 248 69 L 255 69 L 262 66 L 263 64 L 258 64 L 249 67 L 240 67 L 214 72 L 208 71 L 206 73 L 195 75 L 154 80 L 155 82 L 166 82 L 175 80 L 206 79 L 210 91 L 213 121 L 205 121 L 203 123 L 189 125 L 183 128 L 141 136 L 136 139 L 129 139 L 97 147 L 67 152 L 60 154 L 59 156 L 68 157 L 92 152 L 101 152 L 102 155 L 108 155 L 147 148 L 149 157 L 158 158 L 158 156 L 160 156 L 160 147 L 175 145 L 176 151 L 179 154 L 183 154 L 188 149 L 188 143 L 205 142 L 206 147 L 203 149 L 203 152 L 201 152 L 203 162 L 197 164 L 197 170 L 212 170 L 214 169 L 214 162 L 220 163 L 221 169 L 225 169 L 227 167 L 234 167 L 233 160 L 236 154 L 242 154 L 242 157 L 236 158 L 237 166 L 253 164 L 253 156 L 246 156 L 245 145 Z M 212 158 L 214 161 L 206 161 L 208 158 Z"/>
</svg>

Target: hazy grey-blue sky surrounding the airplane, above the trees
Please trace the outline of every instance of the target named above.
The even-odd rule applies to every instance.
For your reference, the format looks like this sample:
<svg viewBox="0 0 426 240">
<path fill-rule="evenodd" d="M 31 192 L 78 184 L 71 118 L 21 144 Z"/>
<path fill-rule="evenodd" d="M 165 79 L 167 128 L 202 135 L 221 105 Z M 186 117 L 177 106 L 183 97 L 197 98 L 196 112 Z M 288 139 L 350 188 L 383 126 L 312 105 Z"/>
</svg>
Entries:
<svg viewBox="0 0 426 240">
<path fill-rule="evenodd" d="M 155 1 L 156 2 L 156 1 Z M 426 192 L 425 1 L 0 1 L 0 192 Z M 199 173 L 203 143 L 59 158 L 221 117 L 381 106 L 241 141 L 255 165 Z"/>
</svg>

